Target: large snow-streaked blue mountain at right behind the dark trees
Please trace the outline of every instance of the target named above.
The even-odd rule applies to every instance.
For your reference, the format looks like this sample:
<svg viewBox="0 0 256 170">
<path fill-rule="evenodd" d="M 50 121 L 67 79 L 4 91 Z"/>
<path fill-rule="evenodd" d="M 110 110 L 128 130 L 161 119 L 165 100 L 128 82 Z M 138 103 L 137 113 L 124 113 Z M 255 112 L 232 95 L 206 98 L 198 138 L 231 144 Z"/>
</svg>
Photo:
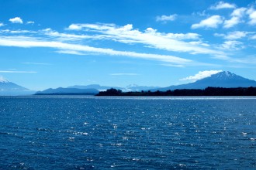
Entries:
<svg viewBox="0 0 256 170">
<path fill-rule="evenodd" d="M 197 80 L 194 83 L 157 88 L 152 89 L 152 91 L 166 91 L 175 89 L 205 89 L 206 87 L 256 87 L 256 81 L 246 79 L 242 76 L 237 76 L 236 74 L 230 73 L 229 71 L 222 71 L 204 79 Z"/>
</svg>

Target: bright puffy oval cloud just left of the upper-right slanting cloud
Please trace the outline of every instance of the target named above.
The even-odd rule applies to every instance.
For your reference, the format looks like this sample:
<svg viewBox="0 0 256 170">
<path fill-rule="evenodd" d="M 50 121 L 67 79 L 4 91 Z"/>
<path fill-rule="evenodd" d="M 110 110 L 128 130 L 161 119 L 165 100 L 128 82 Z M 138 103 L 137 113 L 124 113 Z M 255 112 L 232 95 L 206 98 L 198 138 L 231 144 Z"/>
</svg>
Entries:
<svg viewBox="0 0 256 170">
<path fill-rule="evenodd" d="M 222 23 L 223 23 L 223 19 L 220 15 L 213 15 L 213 16 L 210 16 L 208 19 L 202 20 L 198 24 L 193 24 L 191 28 L 192 29 L 199 29 L 199 28 L 216 29 Z"/>
</svg>

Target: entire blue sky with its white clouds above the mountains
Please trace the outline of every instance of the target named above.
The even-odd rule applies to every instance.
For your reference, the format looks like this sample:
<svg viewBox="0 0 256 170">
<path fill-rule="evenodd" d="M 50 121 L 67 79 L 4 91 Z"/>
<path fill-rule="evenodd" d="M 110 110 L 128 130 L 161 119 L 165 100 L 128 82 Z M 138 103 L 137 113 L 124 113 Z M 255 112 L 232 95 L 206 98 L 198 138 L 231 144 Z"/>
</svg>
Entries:
<svg viewBox="0 0 256 170">
<path fill-rule="evenodd" d="M 256 80 L 255 1 L 0 2 L 0 79 L 31 90 Z"/>
</svg>

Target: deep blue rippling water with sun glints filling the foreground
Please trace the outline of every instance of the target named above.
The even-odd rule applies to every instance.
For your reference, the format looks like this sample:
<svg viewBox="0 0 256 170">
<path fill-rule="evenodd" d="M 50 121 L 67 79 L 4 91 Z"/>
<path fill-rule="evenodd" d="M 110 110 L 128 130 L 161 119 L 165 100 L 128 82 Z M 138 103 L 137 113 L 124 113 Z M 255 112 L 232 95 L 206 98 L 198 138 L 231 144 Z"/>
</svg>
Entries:
<svg viewBox="0 0 256 170">
<path fill-rule="evenodd" d="M 256 97 L 0 97 L 0 169 L 256 168 Z"/>
</svg>

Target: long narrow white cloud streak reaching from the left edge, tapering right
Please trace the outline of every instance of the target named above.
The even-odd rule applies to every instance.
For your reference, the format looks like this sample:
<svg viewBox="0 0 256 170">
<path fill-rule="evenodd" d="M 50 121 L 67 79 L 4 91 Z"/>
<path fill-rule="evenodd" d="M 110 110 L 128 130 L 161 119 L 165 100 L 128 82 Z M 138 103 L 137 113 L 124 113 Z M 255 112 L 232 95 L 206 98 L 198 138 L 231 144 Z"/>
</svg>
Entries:
<svg viewBox="0 0 256 170">
<path fill-rule="evenodd" d="M 92 46 L 83 46 L 78 44 L 70 44 L 64 42 L 54 42 L 54 41 L 41 41 L 39 39 L 24 37 L 24 36 L 12 36 L 5 37 L 0 36 L 0 46 L 16 46 L 23 48 L 32 48 L 32 47 L 47 47 L 54 49 L 61 49 L 64 51 L 74 51 L 78 53 L 97 53 L 102 55 L 110 56 L 129 56 L 140 59 L 153 59 L 158 61 L 164 61 L 168 63 L 178 63 L 178 64 L 187 64 L 191 63 L 190 59 L 183 59 L 177 56 L 169 55 L 160 55 L 152 53 L 136 53 L 130 51 L 118 51 L 114 49 L 104 49 L 104 48 L 95 48 Z"/>
</svg>

